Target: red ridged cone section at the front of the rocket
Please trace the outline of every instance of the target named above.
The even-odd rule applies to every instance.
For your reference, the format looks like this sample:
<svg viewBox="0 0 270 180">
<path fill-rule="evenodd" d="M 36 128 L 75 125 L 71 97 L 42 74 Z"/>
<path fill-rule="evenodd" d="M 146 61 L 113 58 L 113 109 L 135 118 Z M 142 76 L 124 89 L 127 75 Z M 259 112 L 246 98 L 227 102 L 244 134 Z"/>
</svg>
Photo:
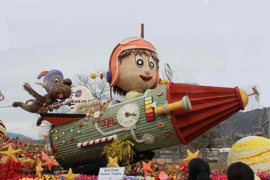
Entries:
<svg viewBox="0 0 270 180">
<path fill-rule="evenodd" d="M 243 108 L 239 89 L 201 85 L 176 84 L 167 86 L 168 103 L 181 101 L 188 95 L 192 110 L 183 108 L 171 112 L 171 120 L 184 144 L 205 133 Z M 239 99 L 240 98 L 240 99 Z"/>
</svg>

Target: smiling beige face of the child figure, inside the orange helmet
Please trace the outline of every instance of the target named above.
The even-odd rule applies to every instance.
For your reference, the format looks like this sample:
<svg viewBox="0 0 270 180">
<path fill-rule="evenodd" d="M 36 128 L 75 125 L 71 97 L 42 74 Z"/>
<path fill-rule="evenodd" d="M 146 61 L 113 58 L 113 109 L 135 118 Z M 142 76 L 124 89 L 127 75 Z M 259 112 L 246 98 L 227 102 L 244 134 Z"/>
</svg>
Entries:
<svg viewBox="0 0 270 180">
<path fill-rule="evenodd" d="M 156 81 L 157 61 L 145 54 L 125 55 L 120 64 L 117 86 L 125 91 L 146 91 Z"/>
</svg>

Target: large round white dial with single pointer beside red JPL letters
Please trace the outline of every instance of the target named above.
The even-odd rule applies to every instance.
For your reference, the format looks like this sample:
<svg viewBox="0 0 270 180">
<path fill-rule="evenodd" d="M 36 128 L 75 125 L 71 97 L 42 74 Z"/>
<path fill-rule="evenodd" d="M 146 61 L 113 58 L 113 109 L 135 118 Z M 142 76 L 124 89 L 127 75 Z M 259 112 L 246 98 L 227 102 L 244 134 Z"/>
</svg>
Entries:
<svg viewBox="0 0 270 180">
<path fill-rule="evenodd" d="M 134 103 L 125 104 L 118 110 L 116 118 L 119 125 L 129 128 L 139 120 L 140 109 Z"/>
</svg>

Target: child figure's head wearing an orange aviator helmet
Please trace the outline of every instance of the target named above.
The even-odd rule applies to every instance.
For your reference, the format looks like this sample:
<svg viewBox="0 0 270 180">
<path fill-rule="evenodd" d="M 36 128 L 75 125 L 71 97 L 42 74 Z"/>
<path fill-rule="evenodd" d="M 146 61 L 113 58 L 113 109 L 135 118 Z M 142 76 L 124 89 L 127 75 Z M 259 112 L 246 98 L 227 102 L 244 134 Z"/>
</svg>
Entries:
<svg viewBox="0 0 270 180">
<path fill-rule="evenodd" d="M 143 38 L 127 38 L 116 45 L 110 57 L 113 92 L 126 95 L 130 91 L 156 88 L 159 81 L 158 55 Z"/>
</svg>

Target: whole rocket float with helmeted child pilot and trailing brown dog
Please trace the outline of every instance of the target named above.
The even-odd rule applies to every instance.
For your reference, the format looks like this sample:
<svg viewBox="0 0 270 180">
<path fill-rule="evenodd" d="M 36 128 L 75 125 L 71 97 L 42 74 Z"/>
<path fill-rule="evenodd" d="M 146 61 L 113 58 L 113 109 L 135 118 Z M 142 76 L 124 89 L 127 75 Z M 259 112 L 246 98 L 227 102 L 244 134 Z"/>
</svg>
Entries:
<svg viewBox="0 0 270 180">
<path fill-rule="evenodd" d="M 238 87 L 170 82 L 168 65 L 168 79 L 161 80 L 158 63 L 152 44 L 143 38 L 127 38 L 113 49 L 106 75 L 89 75 L 106 78 L 110 101 L 94 99 L 86 87 L 71 88 L 70 79 L 64 79 L 59 70 L 51 70 L 38 76 L 44 76 L 44 82 L 39 84 L 48 94 L 41 96 L 25 83 L 24 89 L 35 97 L 29 100 L 35 106 L 27 102 L 14 102 L 13 106 L 39 113 L 37 125 L 43 119 L 50 122 L 50 148 L 57 148 L 55 159 L 66 169 L 84 166 L 75 171 L 82 173 L 106 166 L 104 147 L 114 140 L 125 138 L 134 143 L 134 158 L 119 163 L 151 160 L 151 150 L 188 144 L 244 110 L 248 103 L 247 93 Z M 125 101 L 113 99 L 112 93 L 125 96 Z M 57 101 L 69 97 L 65 102 Z M 47 113 L 65 105 L 71 107 L 71 113 Z"/>
</svg>

